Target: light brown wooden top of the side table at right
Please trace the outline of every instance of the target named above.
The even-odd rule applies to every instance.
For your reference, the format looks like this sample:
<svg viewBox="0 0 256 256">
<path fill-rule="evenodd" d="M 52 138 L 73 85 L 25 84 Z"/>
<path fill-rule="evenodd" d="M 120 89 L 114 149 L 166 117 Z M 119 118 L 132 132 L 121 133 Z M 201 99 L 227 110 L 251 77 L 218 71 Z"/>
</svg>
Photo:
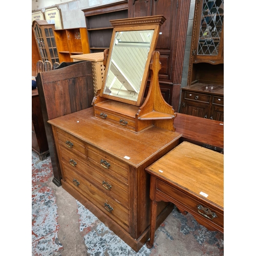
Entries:
<svg viewBox="0 0 256 256">
<path fill-rule="evenodd" d="M 184 141 L 146 171 L 224 209 L 224 155 L 221 153 Z"/>
</svg>

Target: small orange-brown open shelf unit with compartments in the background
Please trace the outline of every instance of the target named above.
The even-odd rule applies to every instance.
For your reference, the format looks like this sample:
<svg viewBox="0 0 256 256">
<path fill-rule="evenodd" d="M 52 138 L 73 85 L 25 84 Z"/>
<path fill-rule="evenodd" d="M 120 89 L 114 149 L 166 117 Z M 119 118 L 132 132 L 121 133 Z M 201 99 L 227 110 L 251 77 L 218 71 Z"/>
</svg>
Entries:
<svg viewBox="0 0 256 256">
<path fill-rule="evenodd" d="M 71 55 L 90 53 L 86 28 L 57 29 L 54 35 L 60 62 L 73 61 Z"/>
</svg>

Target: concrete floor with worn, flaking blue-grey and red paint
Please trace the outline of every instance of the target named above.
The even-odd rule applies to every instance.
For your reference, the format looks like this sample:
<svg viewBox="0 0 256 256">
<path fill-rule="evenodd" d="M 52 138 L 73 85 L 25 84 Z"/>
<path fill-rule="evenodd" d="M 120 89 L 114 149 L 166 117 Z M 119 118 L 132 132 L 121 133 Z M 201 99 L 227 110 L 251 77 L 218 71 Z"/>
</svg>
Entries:
<svg viewBox="0 0 256 256">
<path fill-rule="evenodd" d="M 32 151 L 33 256 L 224 255 L 224 236 L 175 208 L 155 234 L 154 247 L 135 252 L 62 186 L 53 182 L 51 159 Z"/>
</svg>

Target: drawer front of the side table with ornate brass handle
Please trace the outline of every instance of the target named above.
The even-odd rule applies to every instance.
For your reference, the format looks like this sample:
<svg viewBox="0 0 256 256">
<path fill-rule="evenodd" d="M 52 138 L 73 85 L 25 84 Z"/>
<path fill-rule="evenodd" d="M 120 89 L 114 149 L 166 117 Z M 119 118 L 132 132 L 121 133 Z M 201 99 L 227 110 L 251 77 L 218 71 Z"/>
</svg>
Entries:
<svg viewBox="0 0 256 256">
<path fill-rule="evenodd" d="M 167 195 L 168 198 L 172 199 L 170 200 L 174 204 L 180 203 L 181 205 L 184 205 L 189 208 L 188 212 L 190 212 L 191 215 L 194 215 L 195 217 L 199 219 L 203 219 L 204 221 L 207 221 L 208 223 L 213 224 L 213 226 L 217 225 L 221 228 L 224 227 L 224 212 L 219 210 L 214 210 L 211 207 L 207 206 L 207 202 L 202 199 L 202 201 L 198 201 L 197 199 L 194 199 L 178 189 L 160 181 L 157 180 L 157 190 L 160 190 L 162 193 Z M 211 216 L 209 215 L 209 218 L 204 217 L 200 212 L 204 213 L 202 209 L 198 209 L 198 206 L 201 205 L 203 207 L 207 207 L 210 209 L 211 212 L 215 212 L 216 218 L 209 219 Z M 200 212 L 199 212 L 200 211 Z"/>
</svg>

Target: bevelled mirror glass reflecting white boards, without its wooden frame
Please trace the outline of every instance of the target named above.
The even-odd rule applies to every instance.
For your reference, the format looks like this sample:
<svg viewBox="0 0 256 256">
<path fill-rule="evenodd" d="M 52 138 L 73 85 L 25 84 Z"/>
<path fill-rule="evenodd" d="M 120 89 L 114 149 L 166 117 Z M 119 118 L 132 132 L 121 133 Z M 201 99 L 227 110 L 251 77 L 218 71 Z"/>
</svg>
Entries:
<svg viewBox="0 0 256 256">
<path fill-rule="evenodd" d="M 153 33 L 154 30 L 116 32 L 104 94 L 138 100 Z"/>
</svg>

